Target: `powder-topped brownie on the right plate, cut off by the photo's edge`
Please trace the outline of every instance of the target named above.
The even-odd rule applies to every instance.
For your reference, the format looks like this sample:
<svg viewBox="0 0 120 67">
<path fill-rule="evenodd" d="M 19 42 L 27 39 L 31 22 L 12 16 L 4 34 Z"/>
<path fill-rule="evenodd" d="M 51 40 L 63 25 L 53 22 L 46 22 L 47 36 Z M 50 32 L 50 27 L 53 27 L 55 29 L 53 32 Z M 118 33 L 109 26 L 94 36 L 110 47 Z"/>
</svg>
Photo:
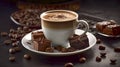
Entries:
<svg viewBox="0 0 120 67">
<path fill-rule="evenodd" d="M 120 35 L 120 25 L 108 25 L 103 29 L 103 33 L 107 35 Z"/>
</svg>

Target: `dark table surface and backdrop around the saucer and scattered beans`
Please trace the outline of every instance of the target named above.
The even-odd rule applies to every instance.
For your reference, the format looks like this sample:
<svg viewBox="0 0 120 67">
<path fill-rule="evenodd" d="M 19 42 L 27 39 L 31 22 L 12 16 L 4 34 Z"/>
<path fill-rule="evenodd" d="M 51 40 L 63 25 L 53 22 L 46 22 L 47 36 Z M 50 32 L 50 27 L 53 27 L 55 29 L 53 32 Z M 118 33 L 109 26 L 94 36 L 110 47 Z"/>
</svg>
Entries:
<svg viewBox="0 0 120 67">
<path fill-rule="evenodd" d="M 18 9 L 15 3 L 8 0 L 0 2 L 0 31 L 8 32 L 10 28 L 18 27 L 10 19 L 11 13 L 16 10 Z M 120 23 L 119 0 L 80 0 L 80 10 L 77 12 L 86 13 L 105 20 L 114 19 L 117 23 Z M 8 49 L 11 46 L 3 44 L 3 41 L 6 40 L 7 37 L 3 38 L 0 36 L 0 67 L 64 67 L 66 62 L 73 62 L 75 67 L 120 67 L 120 53 L 115 53 L 113 50 L 114 47 L 120 47 L 120 38 L 108 38 L 98 34 L 95 34 L 95 36 L 102 40 L 101 44 L 106 46 L 105 51 L 99 51 L 99 44 L 96 44 L 89 51 L 82 54 L 67 57 L 48 57 L 30 52 L 20 44 L 22 51 L 14 54 L 16 57 L 16 62 L 14 63 L 8 60 L 11 55 L 8 53 Z M 95 57 L 99 56 L 100 52 L 107 52 L 107 57 L 98 63 L 95 61 Z M 25 53 L 32 56 L 30 61 L 23 58 Z M 86 63 L 79 63 L 78 59 L 80 56 L 85 56 L 87 58 Z M 109 60 L 111 58 L 117 59 L 116 65 L 110 65 Z"/>
</svg>

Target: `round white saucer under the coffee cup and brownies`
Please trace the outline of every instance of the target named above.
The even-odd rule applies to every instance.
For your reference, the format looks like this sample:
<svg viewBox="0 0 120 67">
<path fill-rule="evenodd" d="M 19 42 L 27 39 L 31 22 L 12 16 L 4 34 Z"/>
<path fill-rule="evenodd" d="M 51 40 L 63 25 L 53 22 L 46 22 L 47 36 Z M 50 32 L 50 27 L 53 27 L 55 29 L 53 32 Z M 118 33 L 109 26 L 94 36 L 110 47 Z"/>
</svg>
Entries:
<svg viewBox="0 0 120 67">
<path fill-rule="evenodd" d="M 41 29 L 40 30 L 36 30 L 36 31 L 42 31 Z M 76 34 L 80 34 L 81 32 L 84 32 L 83 30 L 80 30 L 80 29 L 76 29 L 75 30 L 75 33 Z M 68 55 L 74 55 L 74 54 L 78 54 L 78 53 L 81 53 L 83 51 L 86 51 L 88 49 L 90 49 L 91 47 L 93 47 L 95 44 L 96 44 L 96 37 L 87 32 L 87 37 L 88 37 L 88 40 L 89 40 L 89 47 L 87 48 L 84 48 L 84 49 L 81 49 L 81 50 L 76 50 L 76 51 L 73 51 L 73 52 L 66 52 L 66 53 L 62 53 L 62 52 L 54 52 L 54 53 L 49 53 L 49 52 L 42 52 L 42 51 L 37 51 L 35 49 L 33 49 L 33 45 L 30 45 L 28 44 L 27 42 L 29 42 L 31 40 L 31 33 L 28 33 L 26 34 L 23 38 L 22 38 L 22 45 L 32 51 L 32 52 L 35 52 L 35 53 L 39 53 L 39 54 L 42 54 L 42 55 L 47 55 L 47 56 L 68 56 Z"/>
</svg>

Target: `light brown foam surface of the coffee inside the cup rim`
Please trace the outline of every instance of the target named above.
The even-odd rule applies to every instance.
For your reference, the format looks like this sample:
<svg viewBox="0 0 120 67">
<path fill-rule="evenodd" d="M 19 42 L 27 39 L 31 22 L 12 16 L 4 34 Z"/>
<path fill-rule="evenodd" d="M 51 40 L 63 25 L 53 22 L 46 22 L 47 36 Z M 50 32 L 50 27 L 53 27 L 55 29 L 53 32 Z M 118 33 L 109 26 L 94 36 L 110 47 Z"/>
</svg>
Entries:
<svg viewBox="0 0 120 67">
<path fill-rule="evenodd" d="M 62 11 L 48 12 L 44 16 L 44 18 L 49 21 L 67 21 L 75 17 L 76 16 L 72 13 Z"/>
</svg>

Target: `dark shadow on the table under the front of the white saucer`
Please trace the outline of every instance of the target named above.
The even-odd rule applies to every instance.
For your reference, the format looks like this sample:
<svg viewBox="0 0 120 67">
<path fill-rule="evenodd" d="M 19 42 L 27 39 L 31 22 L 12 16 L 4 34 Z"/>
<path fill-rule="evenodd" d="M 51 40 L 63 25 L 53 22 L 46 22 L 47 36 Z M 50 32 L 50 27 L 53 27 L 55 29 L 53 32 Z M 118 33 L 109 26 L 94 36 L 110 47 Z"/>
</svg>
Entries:
<svg viewBox="0 0 120 67">
<path fill-rule="evenodd" d="M 35 63 L 42 63 L 42 64 L 65 64 L 67 62 L 72 62 L 72 63 L 79 63 L 80 57 L 86 57 L 87 62 L 89 62 L 93 57 L 94 57 L 94 52 L 93 50 L 88 50 L 80 54 L 76 55 L 71 55 L 71 56 L 44 56 L 44 55 L 39 55 L 39 54 L 33 54 L 34 61 Z"/>
</svg>

